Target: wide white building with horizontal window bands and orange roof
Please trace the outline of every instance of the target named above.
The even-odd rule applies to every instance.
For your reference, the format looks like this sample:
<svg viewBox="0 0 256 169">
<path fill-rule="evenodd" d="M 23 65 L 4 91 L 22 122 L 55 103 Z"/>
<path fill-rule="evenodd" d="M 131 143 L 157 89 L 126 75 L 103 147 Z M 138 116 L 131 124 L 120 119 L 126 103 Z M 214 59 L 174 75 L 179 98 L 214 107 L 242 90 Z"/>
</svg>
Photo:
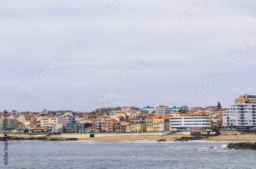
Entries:
<svg viewBox="0 0 256 169">
<path fill-rule="evenodd" d="M 189 114 L 170 117 L 170 130 L 205 130 L 211 127 L 210 117 L 202 113 Z"/>
</svg>

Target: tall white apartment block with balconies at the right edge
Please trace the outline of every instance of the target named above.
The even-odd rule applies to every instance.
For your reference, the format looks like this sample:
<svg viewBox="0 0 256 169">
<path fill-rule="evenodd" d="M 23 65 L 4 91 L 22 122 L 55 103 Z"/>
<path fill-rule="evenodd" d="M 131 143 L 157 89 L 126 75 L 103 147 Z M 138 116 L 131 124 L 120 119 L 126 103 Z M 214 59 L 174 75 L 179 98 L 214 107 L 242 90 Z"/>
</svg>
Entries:
<svg viewBox="0 0 256 169">
<path fill-rule="evenodd" d="M 256 127 L 256 103 L 238 102 L 223 112 L 224 129 L 249 129 Z"/>
</svg>

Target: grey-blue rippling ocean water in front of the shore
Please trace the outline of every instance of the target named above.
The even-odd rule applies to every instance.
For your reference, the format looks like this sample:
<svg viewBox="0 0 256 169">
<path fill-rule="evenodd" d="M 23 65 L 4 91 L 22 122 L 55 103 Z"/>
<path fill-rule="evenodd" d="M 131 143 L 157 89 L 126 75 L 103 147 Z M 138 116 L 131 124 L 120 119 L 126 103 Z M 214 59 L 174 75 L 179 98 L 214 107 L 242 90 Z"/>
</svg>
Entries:
<svg viewBox="0 0 256 169">
<path fill-rule="evenodd" d="M 1 141 L 0 168 L 256 168 L 253 150 L 215 141 Z M 209 149 L 214 147 L 214 149 Z"/>
</svg>

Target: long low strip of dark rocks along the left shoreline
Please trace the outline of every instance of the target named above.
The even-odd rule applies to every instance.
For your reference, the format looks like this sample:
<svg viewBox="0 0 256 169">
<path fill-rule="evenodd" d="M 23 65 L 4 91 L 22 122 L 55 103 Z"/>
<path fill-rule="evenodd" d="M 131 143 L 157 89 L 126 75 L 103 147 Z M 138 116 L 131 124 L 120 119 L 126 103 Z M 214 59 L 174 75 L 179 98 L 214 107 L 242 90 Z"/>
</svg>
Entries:
<svg viewBox="0 0 256 169">
<path fill-rule="evenodd" d="M 24 140 L 40 140 L 40 141 L 77 141 L 77 138 L 48 138 L 48 137 L 13 137 L 13 136 L 7 136 L 7 137 L 0 137 L 0 141 L 24 141 Z"/>
</svg>

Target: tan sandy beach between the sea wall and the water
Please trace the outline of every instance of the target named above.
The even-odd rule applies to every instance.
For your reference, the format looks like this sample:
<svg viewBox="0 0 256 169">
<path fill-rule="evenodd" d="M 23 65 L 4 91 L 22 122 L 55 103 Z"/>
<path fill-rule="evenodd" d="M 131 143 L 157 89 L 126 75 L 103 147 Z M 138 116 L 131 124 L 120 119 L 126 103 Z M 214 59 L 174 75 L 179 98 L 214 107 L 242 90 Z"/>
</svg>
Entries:
<svg viewBox="0 0 256 169">
<path fill-rule="evenodd" d="M 163 135 L 163 136 L 156 136 L 156 135 L 129 135 L 129 136 L 106 136 L 106 137 L 93 137 L 93 138 L 79 138 L 79 140 L 98 140 L 98 141 L 120 141 L 120 140 L 159 140 L 159 139 L 166 139 L 167 141 L 174 141 L 177 138 L 182 136 L 185 137 L 192 137 L 190 135 Z M 220 135 L 209 137 L 205 139 L 205 141 L 256 141 L 256 135 Z"/>
</svg>

